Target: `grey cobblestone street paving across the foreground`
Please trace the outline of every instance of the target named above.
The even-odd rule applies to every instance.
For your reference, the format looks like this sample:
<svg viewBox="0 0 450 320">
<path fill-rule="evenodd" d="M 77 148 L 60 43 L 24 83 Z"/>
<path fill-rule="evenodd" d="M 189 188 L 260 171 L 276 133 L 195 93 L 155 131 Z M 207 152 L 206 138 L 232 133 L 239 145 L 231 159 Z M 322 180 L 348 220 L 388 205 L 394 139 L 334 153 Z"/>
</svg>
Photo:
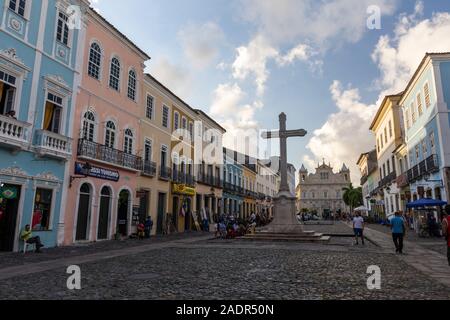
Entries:
<svg viewBox="0 0 450 320">
<path fill-rule="evenodd" d="M 314 227 L 328 228 L 307 228 Z M 351 234 L 343 223 L 329 228 Z M 40 256 L 0 255 L 0 299 L 450 299 L 445 281 L 394 255 L 386 247 L 388 235 L 373 232 L 364 247 L 350 237 L 321 245 L 191 234 L 52 249 Z M 74 264 L 81 267 L 79 291 L 66 288 L 66 268 Z M 381 290 L 367 289 L 370 265 L 381 268 Z M 450 279 L 450 268 L 442 264 L 446 271 Z"/>
</svg>

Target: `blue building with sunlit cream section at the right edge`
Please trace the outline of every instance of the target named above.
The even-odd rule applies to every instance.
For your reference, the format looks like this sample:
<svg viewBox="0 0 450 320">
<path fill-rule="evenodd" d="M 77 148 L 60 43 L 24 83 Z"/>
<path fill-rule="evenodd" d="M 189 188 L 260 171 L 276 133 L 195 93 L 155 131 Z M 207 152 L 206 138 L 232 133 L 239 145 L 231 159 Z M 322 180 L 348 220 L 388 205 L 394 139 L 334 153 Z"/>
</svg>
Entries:
<svg viewBox="0 0 450 320">
<path fill-rule="evenodd" d="M 400 105 L 413 200 L 450 199 L 450 53 L 426 54 Z"/>
</svg>

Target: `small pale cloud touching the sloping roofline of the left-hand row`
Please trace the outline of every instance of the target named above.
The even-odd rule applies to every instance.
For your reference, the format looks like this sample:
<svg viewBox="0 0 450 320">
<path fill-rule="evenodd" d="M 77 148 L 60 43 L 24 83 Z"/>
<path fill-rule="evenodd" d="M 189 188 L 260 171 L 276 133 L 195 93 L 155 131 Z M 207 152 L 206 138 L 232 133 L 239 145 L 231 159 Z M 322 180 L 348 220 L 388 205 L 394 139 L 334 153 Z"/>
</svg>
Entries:
<svg viewBox="0 0 450 320">
<path fill-rule="evenodd" d="M 152 65 L 150 72 L 179 97 L 183 99 L 190 97 L 193 81 L 189 70 L 161 58 Z"/>
</svg>

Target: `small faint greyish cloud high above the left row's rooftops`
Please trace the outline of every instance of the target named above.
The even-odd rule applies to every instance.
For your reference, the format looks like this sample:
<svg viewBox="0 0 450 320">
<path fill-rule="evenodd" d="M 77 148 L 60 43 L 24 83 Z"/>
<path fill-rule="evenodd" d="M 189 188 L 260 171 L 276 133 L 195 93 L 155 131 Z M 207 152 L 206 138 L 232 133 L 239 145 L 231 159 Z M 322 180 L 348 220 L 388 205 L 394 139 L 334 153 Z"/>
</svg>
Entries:
<svg viewBox="0 0 450 320">
<path fill-rule="evenodd" d="M 217 58 L 225 35 L 214 22 L 190 23 L 178 32 L 178 39 L 191 65 L 204 69 Z"/>
</svg>

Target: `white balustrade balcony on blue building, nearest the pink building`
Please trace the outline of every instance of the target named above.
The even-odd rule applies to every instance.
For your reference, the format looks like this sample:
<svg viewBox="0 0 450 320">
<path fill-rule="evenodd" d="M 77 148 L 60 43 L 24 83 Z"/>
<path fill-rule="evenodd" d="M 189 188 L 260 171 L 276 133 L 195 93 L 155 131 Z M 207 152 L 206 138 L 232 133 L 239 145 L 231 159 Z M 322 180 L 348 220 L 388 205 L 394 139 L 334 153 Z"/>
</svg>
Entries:
<svg viewBox="0 0 450 320">
<path fill-rule="evenodd" d="M 69 160 L 72 157 L 72 139 L 58 133 L 36 130 L 35 146 L 41 156 Z"/>
</svg>

